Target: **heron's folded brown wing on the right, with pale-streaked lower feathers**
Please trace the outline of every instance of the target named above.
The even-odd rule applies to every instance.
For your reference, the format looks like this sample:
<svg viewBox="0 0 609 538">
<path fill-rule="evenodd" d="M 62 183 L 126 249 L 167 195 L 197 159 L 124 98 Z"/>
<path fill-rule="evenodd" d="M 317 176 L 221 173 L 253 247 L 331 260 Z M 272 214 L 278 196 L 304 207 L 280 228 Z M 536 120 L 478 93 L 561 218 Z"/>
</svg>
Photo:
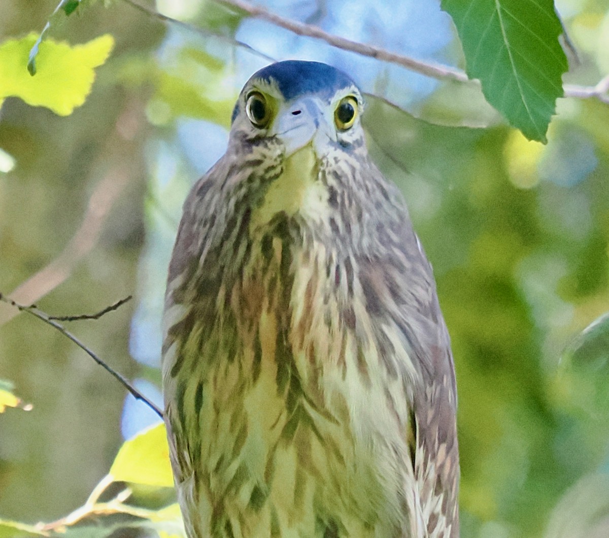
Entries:
<svg viewBox="0 0 609 538">
<path fill-rule="evenodd" d="M 376 316 L 379 326 L 400 332 L 409 359 L 404 371 L 409 377 L 415 372 L 404 395 L 412 405 L 410 431 L 405 435 L 418 508 L 428 527 L 422 536 L 433 538 L 441 529 L 451 528 L 446 536 L 452 538 L 459 532 L 459 449 L 450 340 L 431 265 L 406 209 L 398 206 L 401 197 L 395 196 L 398 218 L 384 223 L 376 255 L 363 256 L 357 265 L 368 312 Z"/>
</svg>

